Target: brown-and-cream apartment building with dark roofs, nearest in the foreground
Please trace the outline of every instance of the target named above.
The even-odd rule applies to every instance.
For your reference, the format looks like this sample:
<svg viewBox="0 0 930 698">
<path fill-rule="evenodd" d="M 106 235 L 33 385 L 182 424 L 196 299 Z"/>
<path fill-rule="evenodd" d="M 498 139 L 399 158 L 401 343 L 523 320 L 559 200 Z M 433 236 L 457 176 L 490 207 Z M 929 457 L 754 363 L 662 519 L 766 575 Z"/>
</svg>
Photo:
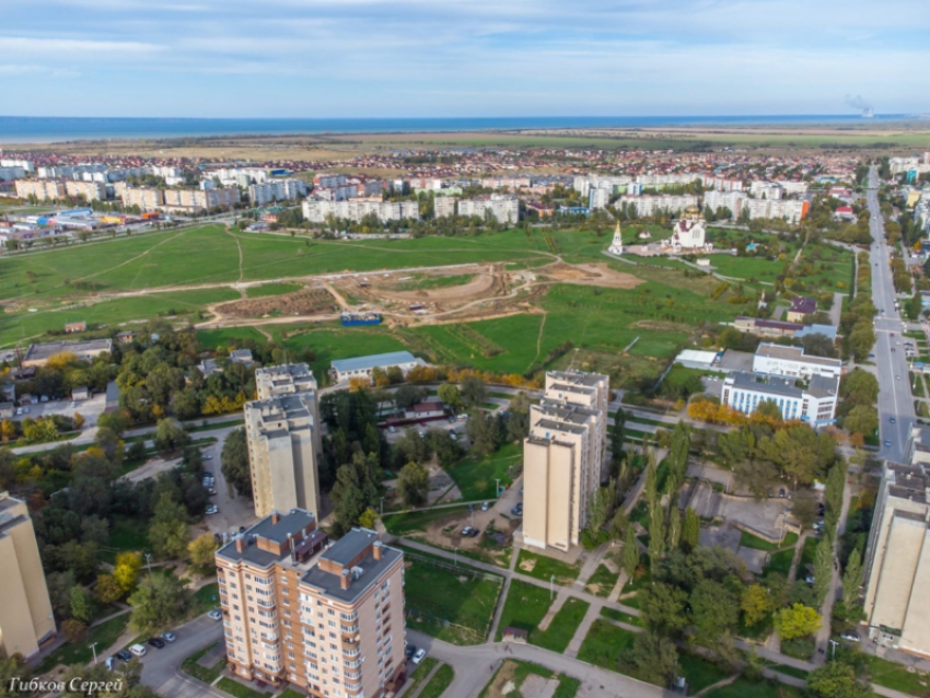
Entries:
<svg viewBox="0 0 930 698">
<path fill-rule="evenodd" d="M 230 671 L 316 698 L 379 698 L 405 674 L 404 554 L 373 531 L 335 544 L 271 513 L 217 551 Z"/>
</svg>

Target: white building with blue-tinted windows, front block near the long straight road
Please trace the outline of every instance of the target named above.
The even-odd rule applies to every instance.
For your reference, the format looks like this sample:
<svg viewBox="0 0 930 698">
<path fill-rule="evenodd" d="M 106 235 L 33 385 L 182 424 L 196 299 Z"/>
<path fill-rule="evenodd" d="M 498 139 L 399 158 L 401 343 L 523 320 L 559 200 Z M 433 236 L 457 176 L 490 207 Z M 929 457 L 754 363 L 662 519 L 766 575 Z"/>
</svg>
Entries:
<svg viewBox="0 0 930 698">
<path fill-rule="evenodd" d="M 778 406 L 782 419 L 825 427 L 836 420 L 838 394 L 839 379 L 815 375 L 804 388 L 798 387 L 793 379 L 737 371 L 723 380 L 720 402 L 748 416 L 770 400 Z"/>
</svg>

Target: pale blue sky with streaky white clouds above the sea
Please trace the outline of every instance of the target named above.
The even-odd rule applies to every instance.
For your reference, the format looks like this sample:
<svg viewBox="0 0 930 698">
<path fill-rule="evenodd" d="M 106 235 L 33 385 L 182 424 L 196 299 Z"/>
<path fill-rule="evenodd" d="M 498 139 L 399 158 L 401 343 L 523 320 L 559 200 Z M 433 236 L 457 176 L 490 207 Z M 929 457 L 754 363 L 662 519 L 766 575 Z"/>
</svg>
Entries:
<svg viewBox="0 0 930 698">
<path fill-rule="evenodd" d="M 930 112 L 927 0 L 3 5 L 2 115 Z"/>
</svg>

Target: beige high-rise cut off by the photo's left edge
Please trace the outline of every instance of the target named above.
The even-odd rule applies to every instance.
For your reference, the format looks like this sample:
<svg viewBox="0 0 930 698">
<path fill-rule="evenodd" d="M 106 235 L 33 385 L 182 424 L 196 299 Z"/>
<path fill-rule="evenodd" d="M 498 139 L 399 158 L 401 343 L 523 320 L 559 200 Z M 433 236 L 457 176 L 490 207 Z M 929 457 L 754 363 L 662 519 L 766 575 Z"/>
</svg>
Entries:
<svg viewBox="0 0 930 698">
<path fill-rule="evenodd" d="M 0 650 L 30 658 L 55 635 L 55 618 L 26 503 L 0 492 Z"/>
</svg>

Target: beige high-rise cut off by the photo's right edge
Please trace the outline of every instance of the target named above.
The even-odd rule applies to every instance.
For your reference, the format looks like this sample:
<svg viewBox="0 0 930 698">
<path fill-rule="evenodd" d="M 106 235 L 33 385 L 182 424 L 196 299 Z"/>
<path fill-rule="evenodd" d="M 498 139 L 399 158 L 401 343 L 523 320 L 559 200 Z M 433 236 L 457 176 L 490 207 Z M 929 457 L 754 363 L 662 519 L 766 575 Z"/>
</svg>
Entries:
<svg viewBox="0 0 930 698">
<path fill-rule="evenodd" d="M 919 437 L 918 437 L 919 438 Z M 884 464 L 865 551 L 869 637 L 930 658 L 930 472 Z"/>
</svg>

